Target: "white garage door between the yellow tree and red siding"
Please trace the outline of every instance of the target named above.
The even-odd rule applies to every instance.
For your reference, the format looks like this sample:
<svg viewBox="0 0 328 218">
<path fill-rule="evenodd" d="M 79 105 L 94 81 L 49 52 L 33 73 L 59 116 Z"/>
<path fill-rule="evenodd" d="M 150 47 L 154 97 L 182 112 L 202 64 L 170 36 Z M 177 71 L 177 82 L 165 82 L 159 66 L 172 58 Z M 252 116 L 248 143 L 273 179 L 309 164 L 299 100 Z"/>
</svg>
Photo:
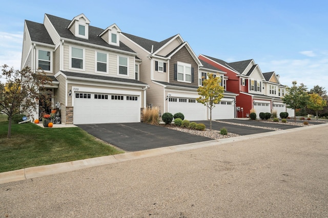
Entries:
<svg viewBox="0 0 328 218">
<path fill-rule="evenodd" d="M 232 101 L 221 100 L 219 104 L 215 104 L 212 109 L 212 119 L 222 120 L 222 119 L 234 119 L 235 118 L 235 107 Z M 209 112 L 210 119 L 210 112 Z"/>
</svg>

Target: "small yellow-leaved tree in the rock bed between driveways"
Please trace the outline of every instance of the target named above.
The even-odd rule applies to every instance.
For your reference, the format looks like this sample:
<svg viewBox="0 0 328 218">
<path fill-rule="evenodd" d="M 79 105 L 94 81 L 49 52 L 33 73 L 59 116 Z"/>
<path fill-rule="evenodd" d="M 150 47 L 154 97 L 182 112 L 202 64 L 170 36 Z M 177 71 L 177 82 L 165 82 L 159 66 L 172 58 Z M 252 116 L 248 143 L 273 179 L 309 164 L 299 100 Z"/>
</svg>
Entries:
<svg viewBox="0 0 328 218">
<path fill-rule="evenodd" d="M 210 109 L 210 129 L 212 129 L 212 109 L 215 104 L 218 104 L 223 98 L 224 88 L 220 85 L 220 77 L 214 77 L 213 74 L 208 73 L 208 79 L 203 81 L 203 86 L 197 89 L 198 98 L 197 102 L 206 105 Z"/>
</svg>

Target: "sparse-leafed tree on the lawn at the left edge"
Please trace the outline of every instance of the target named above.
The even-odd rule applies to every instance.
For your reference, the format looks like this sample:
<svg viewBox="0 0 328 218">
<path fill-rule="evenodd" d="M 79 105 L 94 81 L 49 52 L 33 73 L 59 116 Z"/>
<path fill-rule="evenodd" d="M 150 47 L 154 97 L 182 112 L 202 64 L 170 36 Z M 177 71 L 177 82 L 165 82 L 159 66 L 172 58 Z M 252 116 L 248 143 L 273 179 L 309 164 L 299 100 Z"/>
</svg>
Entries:
<svg viewBox="0 0 328 218">
<path fill-rule="evenodd" d="M 31 68 L 14 70 L 6 64 L 1 66 L 0 78 L 6 79 L 6 85 L 0 84 L 0 111 L 8 115 L 8 134 L 11 137 L 12 117 L 17 113 L 36 111 L 38 101 L 50 105 L 47 94 L 42 94 L 45 85 L 51 85 L 51 79 L 43 71 L 33 73 Z"/>
</svg>

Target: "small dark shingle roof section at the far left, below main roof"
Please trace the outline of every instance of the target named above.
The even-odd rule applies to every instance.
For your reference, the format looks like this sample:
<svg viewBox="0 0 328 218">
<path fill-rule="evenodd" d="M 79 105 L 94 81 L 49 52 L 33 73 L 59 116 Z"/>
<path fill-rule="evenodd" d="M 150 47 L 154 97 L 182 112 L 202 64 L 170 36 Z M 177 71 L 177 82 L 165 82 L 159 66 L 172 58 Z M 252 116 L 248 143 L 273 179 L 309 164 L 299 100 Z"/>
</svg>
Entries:
<svg viewBox="0 0 328 218">
<path fill-rule="evenodd" d="M 32 41 L 54 45 L 48 31 L 43 24 L 35 23 L 29 20 L 25 20 L 25 23 Z"/>
</svg>

